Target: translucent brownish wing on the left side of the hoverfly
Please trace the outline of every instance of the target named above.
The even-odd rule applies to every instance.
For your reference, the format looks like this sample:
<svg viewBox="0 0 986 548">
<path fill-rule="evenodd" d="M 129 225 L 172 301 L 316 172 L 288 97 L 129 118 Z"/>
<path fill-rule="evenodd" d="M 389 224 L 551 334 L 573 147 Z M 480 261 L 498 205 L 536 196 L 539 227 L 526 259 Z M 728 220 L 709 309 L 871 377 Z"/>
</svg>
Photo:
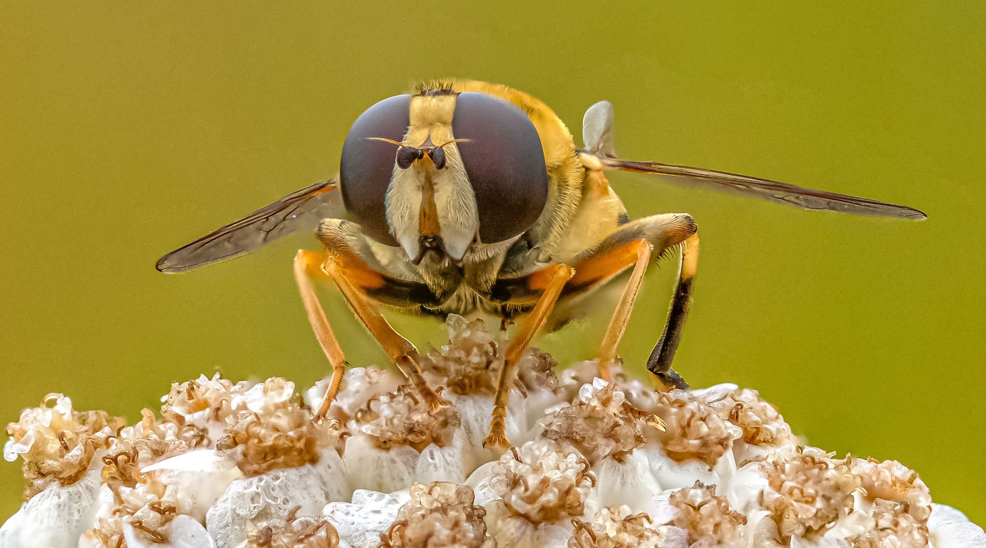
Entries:
<svg viewBox="0 0 986 548">
<path fill-rule="evenodd" d="M 320 220 L 344 213 L 336 182 L 317 182 L 178 247 L 161 257 L 157 268 L 171 274 L 239 257 L 291 233 L 315 231 Z"/>
</svg>

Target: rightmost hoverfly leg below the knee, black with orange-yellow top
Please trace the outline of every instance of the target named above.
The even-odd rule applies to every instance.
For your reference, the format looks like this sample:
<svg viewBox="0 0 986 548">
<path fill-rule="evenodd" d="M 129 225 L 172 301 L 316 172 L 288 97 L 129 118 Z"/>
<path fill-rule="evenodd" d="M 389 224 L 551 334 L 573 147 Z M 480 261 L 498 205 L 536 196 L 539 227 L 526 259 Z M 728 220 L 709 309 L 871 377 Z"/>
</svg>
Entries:
<svg viewBox="0 0 986 548">
<path fill-rule="evenodd" d="M 681 341 L 681 330 L 691 307 L 691 285 L 698 266 L 698 235 L 691 235 L 681 243 L 681 258 L 678 261 L 678 281 L 671 298 L 668 321 L 661 339 L 647 359 L 647 369 L 669 388 L 685 389 L 688 384 L 671 369 L 674 352 Z"/>
</svg>

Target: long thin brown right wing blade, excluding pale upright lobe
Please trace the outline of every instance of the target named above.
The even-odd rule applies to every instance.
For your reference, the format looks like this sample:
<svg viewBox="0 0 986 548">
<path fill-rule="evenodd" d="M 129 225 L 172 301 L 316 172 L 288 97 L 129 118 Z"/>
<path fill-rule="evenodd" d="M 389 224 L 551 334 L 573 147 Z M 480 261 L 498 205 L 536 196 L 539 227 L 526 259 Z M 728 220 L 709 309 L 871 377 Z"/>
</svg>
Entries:
<svg viewBox="0 0 986 548">
<path fill-rule="evenodd" d="M 583 151 L 585 152 L 585 151 Z M 623 171 L 639 171 L 671 175 L 677 182 L 725 190 L 745 196 L 753 196 L 778 204 L 785 204 L 810 211 L 837 211 L 853 215 L 896 217 L 911 221 L 928 218 L 924 212 L 912 207 L 888 204 L 846 194 L 813 190 L 766 178 L 751 177 L 727 171 L 702 170 L 687 166 L 673 166 L 657 162 L 629 162 L 608 156 L 595 155 L 608 168 Z"/>
</svg>

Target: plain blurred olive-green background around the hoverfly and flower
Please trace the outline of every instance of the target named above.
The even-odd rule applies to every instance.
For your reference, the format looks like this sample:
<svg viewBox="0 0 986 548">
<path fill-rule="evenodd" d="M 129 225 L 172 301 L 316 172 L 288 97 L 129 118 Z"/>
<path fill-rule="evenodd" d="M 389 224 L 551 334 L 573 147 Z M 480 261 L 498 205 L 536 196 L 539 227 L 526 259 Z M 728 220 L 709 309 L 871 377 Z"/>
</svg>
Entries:
<svg viewBox="0 0 986 548">
<path fill-rule="evenodd" d="M 182 275 L 154 263 L 333 176 L 372 103 L 456 76 L 543 100 L 580 144 L 583 112 L 608 100 L 626 159 L 927 212 L 610 176 L 631 218 L 698 222 L 684 377 L 757 388 L 811 445 L 898 459 L 984 523 L 984 27 L 976 2 L 4 1 L 0 417 L 57 391 L 134 421 L 200 373 L 326 375 L 291 275 L 299 241 Z M 623 340 L 636 374 L 674 272 L 652 269 Z M 352 365 L 386 363 L 337 295 L 323 302 Z M 591 358 L 606 313 L 534 344 Z M 393 323 L 443 342 L 434 320 Z M 0 466 L 0 514 L 20 504 L 19 467 Z"/>
</svg>

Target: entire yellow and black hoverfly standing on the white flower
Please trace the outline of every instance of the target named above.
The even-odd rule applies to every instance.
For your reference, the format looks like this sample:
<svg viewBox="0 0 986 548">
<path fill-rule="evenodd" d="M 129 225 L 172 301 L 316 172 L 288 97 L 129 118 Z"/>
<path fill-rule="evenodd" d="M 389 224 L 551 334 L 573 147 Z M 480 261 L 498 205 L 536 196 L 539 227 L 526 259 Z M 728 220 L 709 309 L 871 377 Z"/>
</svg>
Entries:
<svg viewBox="0 0 986 548">
<path fill-rule="evenodd" d="M 678 279 L 647 369 L 667 387 L 687 387 L 671 361 L 691 300 L 697 226 L 686 213 L 630 220 L 605 171 L 672 175 L 812 211 L 926 218 L 910 207 L 763 178 L 620 160 L 612 122 L 610 103 L 591 106 L 580 149 L 558 116 L 523 92 L 458 80 L 419 85 L 356 119 L 342 147 L 338 181 L 289 194 L 168 253 L 157 268 L 190 270 L 317 227 L 324 250 L 299 250 L 294 273 L 332 367 L 318 417 L 335 397 L 346 363 L 317 300 L 316 281 L 334 283 L 432 409 L 444 402 L 421 376 L 417 349 L 390 327 L 381 307 L 440 318 L 476 312 L 519 317 L 484 443 L 506 446 L 507 395 L 531 337 L 578 315 L 587 296 L 632 267 L 599 348 L 599 374 L 608 378 L 652 254 L 660 258 L 675 247 Z M 352 221 L 343 219 L 347 215 Z"/>
</svg>

